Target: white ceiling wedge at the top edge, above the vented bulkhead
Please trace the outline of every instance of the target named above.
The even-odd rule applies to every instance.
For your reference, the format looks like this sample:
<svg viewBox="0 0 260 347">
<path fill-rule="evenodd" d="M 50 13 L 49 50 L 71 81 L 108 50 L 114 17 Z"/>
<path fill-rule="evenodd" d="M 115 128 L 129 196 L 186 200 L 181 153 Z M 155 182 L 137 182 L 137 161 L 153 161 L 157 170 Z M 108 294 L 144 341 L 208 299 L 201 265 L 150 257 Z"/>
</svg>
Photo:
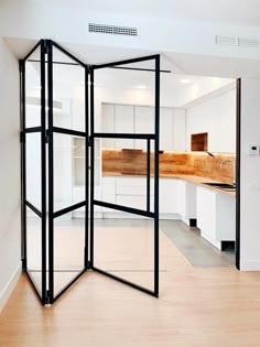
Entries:
<svg viewBox="0 0 260 347">
<path fill-rule="evenodd" d="M 7 1 L 7 0 L 6 0 Z M 195 20 L 229 25 L 260 26 L 259 0 L 8 0 L 63 6 L 98 12 Z"/>
</svg>

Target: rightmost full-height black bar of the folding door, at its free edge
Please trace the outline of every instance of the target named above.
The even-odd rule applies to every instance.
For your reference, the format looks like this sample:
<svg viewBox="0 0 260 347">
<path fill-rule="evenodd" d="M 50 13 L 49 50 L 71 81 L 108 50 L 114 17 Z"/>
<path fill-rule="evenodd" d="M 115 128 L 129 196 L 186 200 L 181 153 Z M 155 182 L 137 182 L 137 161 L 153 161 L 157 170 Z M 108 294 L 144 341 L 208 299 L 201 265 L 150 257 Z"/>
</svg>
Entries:
<svg viewBox="0 0 260 347">
<path fill-rule="evenodd" d="M 154 294 L 159 295 L 159 134 L 160 55 L 155 57 L 155 148 L 154 148 Z"/>
</svg>

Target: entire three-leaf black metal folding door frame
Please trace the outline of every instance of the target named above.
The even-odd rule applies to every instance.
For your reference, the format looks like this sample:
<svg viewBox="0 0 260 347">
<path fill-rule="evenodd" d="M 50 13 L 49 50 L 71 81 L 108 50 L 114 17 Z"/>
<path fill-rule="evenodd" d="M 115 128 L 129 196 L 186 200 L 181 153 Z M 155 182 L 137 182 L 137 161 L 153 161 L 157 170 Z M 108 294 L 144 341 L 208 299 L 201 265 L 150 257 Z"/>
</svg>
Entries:
<svg viewBox="0 0 260 347">
<path fill-rule="evenodd" d="M 25 62 L 30 58 L 31 54 L 37 48 L 41 48 L 41 59 L 37 61 L 41 64 L 41 127 L 25 128 Z M 55 127 L 53 124 L 53 64 L 61 64 L 61 62 L 53 61 L 53 47 L 59 50 L 62 53 L 67 55 L 71 59 L 75 62 L 73 65 L 80 65 L 85 68 L 85 131 L 76 131 L 72 129 L 65 129 L 61 127 Z M 105 67 L 116 67 L 122 66 L 131 63 L 139 63 L 145 61 L 155 62 L 155 127 L 154 133 L 143 133 L 143 134 L 127 134 L 127 133 L 98 133 L 95 132 L 94 128 L 94 78 L 95 69 Z M 68 64 L 69 63 L 62 63 Z M 123 67 L 122 67 L 123 68 Z M 47 72 L 47 85 L 45 80 L 45 73 Z M 88 93 L 88 82 L 90 75 L 90 97 Z M 104 64 L 99 66 L 90 66 L 77 57 L 72 55 L 69 52 L 64 50 L 62 46 L 56 44 L 51 40 L 41 40 L 33 50 L 20 61 L 20 99 L 21 99 L 21 195 L 22 195 L 22 263 L 23 270 L 28 274 L 37 297 L 41 300 L 42 304 L 53 304 L 75 281 L 77 281 L 87 270 L 94 270 L 105 275 L 108 275 L 117 281 L 128 284 L 134 289 L 143 291 L 150 295 L 159 296 L 159 127 L 160 127 L 160 55 L 151 55 L 140 58 L 133 58 L 128 61 L 115 62 L 110 64 Z M 47 93 L 46 93 L 47 91 Z M 47 115 L 45 99 L 47 96 Z M 90 119 L 89 119 L 89 105 L 90 105 Z M 47 129 L 46 129 L 47 119 Z M 90 120 L 90 129 L 89 129 Z M 90 130 L 90 131 L 89 131 Z M 25 148 L 26 148 L 26 133 L 39 132 L 41 133 L 41 164 L 42 164 L 42 210 L 39 210 L 30 202 L 26 200 L 26 170 L 25 170 Z M 89 133 L 90 132 L 90 133 Z M 53 135 L 55 133 L 69 134 L 85 138 L 85 172 L 86 172 L 86 188 L 85 188 L 85 200 L 63 208 L 61 210 L 54 212 L 54 182 L 53 182 Z M 148 160 L 148 172 L 147 172 L 147 210 L 140 210 L 136 208 L 130 208 L 127 206 L 120 206 L 115 204 L 109 204 L 106 202 L 99 202 L 94 198 L 94 186 L 95 186 L 95 139 L 97 138 L 118 138 L 118 139 L 142 139 L 147 141 L 147 160 Z M 154 141 L 154 212 L 150 208 L 150 152 L 151 152 L 151 141 Z M 48 155 L 46 158 L 46 144 L 48 147 Z M 88 162 L 90 148 L 90 177 L 88 173 Z M 48 163 L 48 171 L 46 172 L 46 160 Z M 46 176 L 48 177 L 48 187 L 46 186 Z M 90 184 L 90 192 L 89 192 Z M 90 198 L 89 198 L 90 193 Z M 46 206 L 48 196 L 48 206 Z M 90 204 L 89 204 L 90 203 Z M 154 290 L 148 290 L 138 284 L 131 283 L 116 275 L 112 275 L 101 269 L 95 267 L 95 254 L 94 254 L 94 206 L 104 206 L 108 208 L 115 208 L 122 212 L 128 212 L 139 216 L 150 217 L 154 220 Z M 28 271 L 26 257 L 26 206 L 31 208 L 42 220 L 42 294 L 39 292 L 36 284 L 34 283 L 32 276 Z M 56 295 L 54 295 L 54 219 L 73 212 L 79 207 L 85 206 L 86 218 L 85 218 L 85 254 L 84 254 L 84 269 Z M 90 207 L 90 213 L 88 215 L 88 207 Z M 46 217 L 48 210 L 48 225 L 46 226 Z M 89 216 L 89 218 L 88 218 Z M 88 219 L 90 220 L 90 226 L 88 226 Z M 47 230 L 48 227 L 48 230 Z M 46 231 L 47 230 L 47 231 Z M 48 232 L 48 237 L 46 237 Z M 46 240 L 48 239 L 48 245 Z M 46 254 L 46 249 L 48 246 L 48 253 Z"/>
</svg>

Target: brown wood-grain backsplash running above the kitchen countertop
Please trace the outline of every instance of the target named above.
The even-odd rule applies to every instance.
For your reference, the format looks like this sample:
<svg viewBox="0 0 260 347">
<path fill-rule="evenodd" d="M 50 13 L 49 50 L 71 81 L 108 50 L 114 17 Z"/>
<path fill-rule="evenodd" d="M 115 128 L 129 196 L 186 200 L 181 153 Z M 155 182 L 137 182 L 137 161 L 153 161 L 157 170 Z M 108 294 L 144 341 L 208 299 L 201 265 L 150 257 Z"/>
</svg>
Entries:
<svg viewBox="0 0 260 347">
<path fill-rule="evenodd" d="M 182 174 L 208 177 L 216 181 L 231 183 L 234 166 L 224 160 L 235 162 L 235 154 L 216 154 L 209 156 L 206 152 L 164 152 L 160 154 L 161 174 Z M 154 171 L 154 155 L 151 153 L 151 174 Z M 139 150 L 102 150 L 104 174 L 147 174 L 147 152 Z"/>
</svg>

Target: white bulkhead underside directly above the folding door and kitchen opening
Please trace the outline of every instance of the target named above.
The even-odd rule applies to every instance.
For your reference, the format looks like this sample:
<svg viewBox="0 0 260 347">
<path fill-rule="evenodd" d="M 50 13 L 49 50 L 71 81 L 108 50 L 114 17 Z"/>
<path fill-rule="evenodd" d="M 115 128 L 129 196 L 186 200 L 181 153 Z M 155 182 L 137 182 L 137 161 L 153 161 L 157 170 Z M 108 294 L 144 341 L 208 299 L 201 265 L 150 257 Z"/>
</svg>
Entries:
<svg viewBox="0 0 260 347">
<path fill-rule="evenodd" d="M 19 58 L 23 58 L 36 44 L 35 40 L 25 39 L 8 37 L 6 41 Z M 61 45 L 84 63 L 94 65 L 154 54 L 154 52 L 148 50 L 126 47 L 94 46 L 75 43 L 61 43 Z M 55 58 L 57 58 L 57 56 L 55 56 Z M 173 74 L 177 75 L 223 78 L 260 78 L 260 62 L 258 59 L 192 55 L 172 52 L 164 52 L 161 54 L 161 69 L 171 71 Z"/>
</svg>

